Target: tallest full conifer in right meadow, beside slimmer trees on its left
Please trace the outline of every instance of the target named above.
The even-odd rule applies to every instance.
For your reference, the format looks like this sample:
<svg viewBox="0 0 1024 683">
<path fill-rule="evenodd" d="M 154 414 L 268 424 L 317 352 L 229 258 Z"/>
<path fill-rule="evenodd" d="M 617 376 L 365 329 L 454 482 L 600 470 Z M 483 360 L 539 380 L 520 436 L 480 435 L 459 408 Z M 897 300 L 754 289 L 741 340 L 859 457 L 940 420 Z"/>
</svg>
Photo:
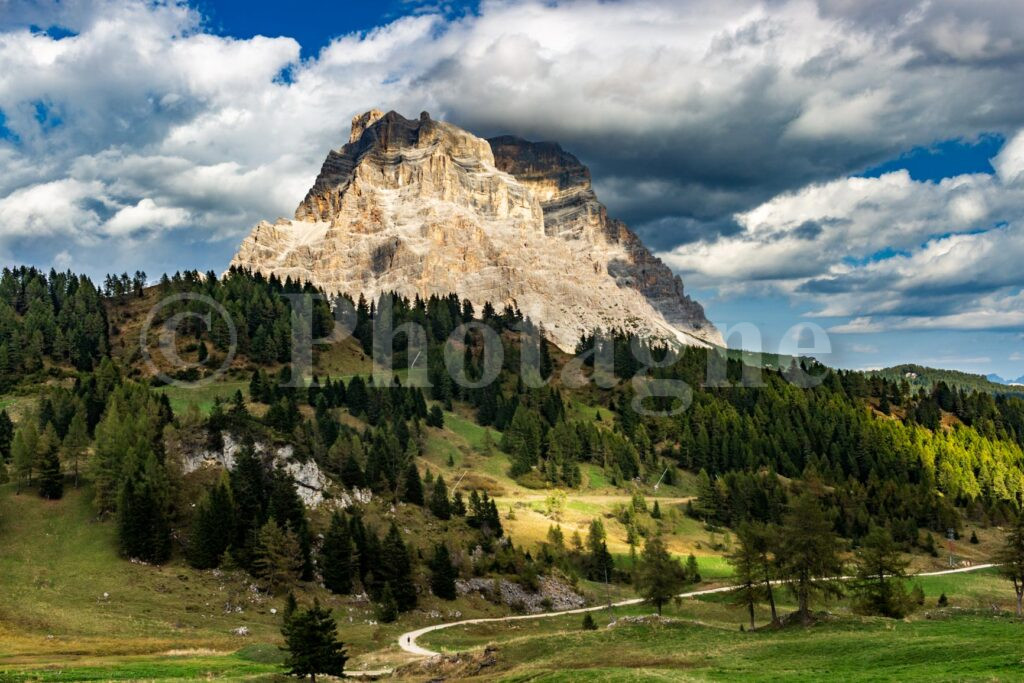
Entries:
<svg viewBox="0 0 1024 683">
<path fill-rule="evenodd" d="M 783 517 L 777 557 L 780 578 L 788 582 L 805 625 L 811 622 L 813 594 L 841 594 L 839 543 L 818 500 L 811 494 L 798 497 Z"/>
</svg>

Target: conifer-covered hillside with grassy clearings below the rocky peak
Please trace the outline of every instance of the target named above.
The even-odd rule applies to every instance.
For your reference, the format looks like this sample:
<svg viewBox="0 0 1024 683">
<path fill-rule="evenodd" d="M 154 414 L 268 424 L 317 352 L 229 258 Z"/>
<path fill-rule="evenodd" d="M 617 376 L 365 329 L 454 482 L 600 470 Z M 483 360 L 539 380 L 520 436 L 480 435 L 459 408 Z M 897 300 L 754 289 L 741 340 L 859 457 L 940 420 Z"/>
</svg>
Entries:
<svg viewBox="0 0 1024 683">
<path fill-rule="evenodd" d="M 126 278 L 102 292 L 71 273 L 0 279 L 4 495 L 58 500 L 83 487 L 121 561 L 229 572 L 270 598 L 349 600 L 330 604 L 386 624 L 482 591 L 473 580 L 515 584 L 526 597 L 513 608 L 529 609 L 522 600 L 554 581 L 572 600 L 635 590 L 660 608 L 753 547 L 752 529 L 764 531 L 764 557 L 799 556 L 798 536 L 824 543 L 815 547 L 835 558 L 824 577 L 849 551 L 886 543 L 929 562 L 949 529 L 982 530 L 989 548 L 984 529 L 1016 520 L 1024 497 L 1018 396 L 914 389 L 812 361 L 743 386 L 751 369 L 734 358 L 731 384 L 706 387 L 715 352 L 668 356 L 613 331 L 585 336 L 571 358 L 518 310 L 476 311 L 454 296 L 296 308 L 285 295 L 312 288 L 241 270 L 152 288 Z M 158 335 L 138 347 L 168 297 L 155 324 L 177 321 L 186 368 L 146 359 Z M 233 333 L 216 314 L 203 322 L 210 302 Z M 381 349 L 382 306 L 392 329 L 421 326 L 425 349 L 410 353 L 409 333 Z M 332 308 L 350 315 L 336 323 Z M 318 340 L 351 331 L 314 345 L 303 378 L 289 366 L 299 323 Z M 373 379 L 382 350 L 389 385 Z M 659 393 L 664 382 L 688 389 Z M 0 546 L 10 528 L 0 520 Z M 718 536 L 729 529 L 735 546 Z"/>
</svg>

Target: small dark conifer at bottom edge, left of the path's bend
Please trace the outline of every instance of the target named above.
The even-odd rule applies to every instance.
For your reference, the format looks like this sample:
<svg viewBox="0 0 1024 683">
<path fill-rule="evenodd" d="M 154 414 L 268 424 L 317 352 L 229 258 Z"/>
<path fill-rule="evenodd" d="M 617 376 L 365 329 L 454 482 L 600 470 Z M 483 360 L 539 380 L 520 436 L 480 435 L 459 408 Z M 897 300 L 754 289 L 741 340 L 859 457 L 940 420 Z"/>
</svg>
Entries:
<svg viewBox="0 0 1024 683">
<path fill-rule="evenodd" d="M 338 640 L 338 625 L 331 610 L 313 601 L 309 609 L 295 610 L 281 629 L 288 657 L 285 668 L 292 676 L 308 676 L 314 683 L 317 674 L 342 676 L 348 656 Z"/>
</svg>

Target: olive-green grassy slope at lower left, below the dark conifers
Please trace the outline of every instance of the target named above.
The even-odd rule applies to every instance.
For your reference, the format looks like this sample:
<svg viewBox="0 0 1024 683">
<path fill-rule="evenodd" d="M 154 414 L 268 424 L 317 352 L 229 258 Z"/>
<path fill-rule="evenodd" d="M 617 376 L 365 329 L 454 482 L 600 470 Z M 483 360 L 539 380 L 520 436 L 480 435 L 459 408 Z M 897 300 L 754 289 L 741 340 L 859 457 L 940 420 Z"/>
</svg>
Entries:
<svg viewBox="0 0 1024 683">
<path fill-rule="evenodd" d="M 442 522 L 407 507 L 397 511 L 399 525 L 426 553 Z M 375 526 L 387 523 L 375 515 Z M 242 572 L 198 571 L 177 558 L 164 566 L 121 559 L 115 525 L 94 518 L 87 489 L 69 488 L 62 500 L 50 502 L 0 486 L 0 680 L 11 672 L 41 676 L 69 668 L 94 674 L 82 671 L 76 678 L 100 680 L 188 678 L 207 671 L 234 678 L 268 668 L 232 652 L 248 648 L 251 654 L 254 646 L 273 651 L 281 644 L 282 597 L 255 593 Z M 360 669 L 407 660 L 395 644 L 407 630 L 457 614 L 507 613 L 479 596 L 444 602 L 424 594 L 420 609 L 377 625 L 370 603 L 311 585 L 296 594 L 302 603 L 316 597 L 333 608 L 352 667 Z M 242 611 L 225 609 L 228 602 Z M 239 627 L 249 635 L 234 635 Z"/>
</svg>

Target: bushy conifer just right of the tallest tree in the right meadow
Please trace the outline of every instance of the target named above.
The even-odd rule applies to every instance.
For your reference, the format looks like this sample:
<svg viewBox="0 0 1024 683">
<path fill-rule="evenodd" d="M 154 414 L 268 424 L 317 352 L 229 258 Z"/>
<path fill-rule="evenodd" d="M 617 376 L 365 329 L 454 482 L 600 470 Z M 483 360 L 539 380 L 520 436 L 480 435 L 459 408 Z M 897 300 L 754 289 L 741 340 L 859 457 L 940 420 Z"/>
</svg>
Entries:
<svg viewBox="0 0 1024 683">
<path fill-rule="evenodd" d="M 907 564 L 889 530 L 871 528 L 854 552 L 857 607 L 867 614 L 906 615 L 909 598 L 903 580 Z"/>
</svg>

